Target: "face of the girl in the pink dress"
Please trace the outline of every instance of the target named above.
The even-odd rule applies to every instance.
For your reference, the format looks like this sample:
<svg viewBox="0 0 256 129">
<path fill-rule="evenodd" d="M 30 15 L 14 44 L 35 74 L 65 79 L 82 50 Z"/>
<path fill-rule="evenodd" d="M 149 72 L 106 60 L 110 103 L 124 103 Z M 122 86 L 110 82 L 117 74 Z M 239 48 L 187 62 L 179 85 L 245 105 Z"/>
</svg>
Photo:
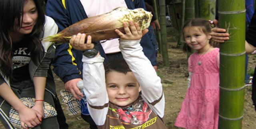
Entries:
<svg viewBox="0 0 256 129">
<path fill-rule="evenodd" d="M 190 48 L 197 50 L 198 53 L 204 53 L 210 46 L 211 35 L 206 35 L 200 27 L 185 27 L 183 34 L 185 43 Z"/>
</svg>

